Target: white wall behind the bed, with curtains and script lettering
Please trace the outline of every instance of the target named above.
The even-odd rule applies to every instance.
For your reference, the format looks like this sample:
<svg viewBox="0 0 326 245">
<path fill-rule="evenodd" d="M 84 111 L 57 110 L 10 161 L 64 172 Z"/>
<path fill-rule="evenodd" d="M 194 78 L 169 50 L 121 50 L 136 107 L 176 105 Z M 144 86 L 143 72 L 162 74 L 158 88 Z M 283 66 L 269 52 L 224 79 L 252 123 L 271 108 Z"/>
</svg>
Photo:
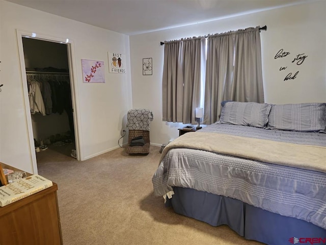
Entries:
<svg viewBox="0 0 326 245">
<path fill-rule="evenodd" d="M 319 1 L 242 15 L 192 26 L 130 36 L 132 104 L 153 111 L 151 143 L 162 144 L 178 136 L 181 124 L 162 121 L 161 79 L 164 46 L 160 41 L 204 36 L 267 25 L 261 32 L 262 68 L 266 103 L 326 102 L 326 2 Z M 290 55 L 275 59 L 278 51 Z M 291 61 L 308 57 L 301 65 Z M 153 58 L 153 75 L 142 76 L 142 58 Z M 280 71 L 281 67 L 287 67 Z M 299 71 L 293 80 L 284 81 Z"/>
</svg>

